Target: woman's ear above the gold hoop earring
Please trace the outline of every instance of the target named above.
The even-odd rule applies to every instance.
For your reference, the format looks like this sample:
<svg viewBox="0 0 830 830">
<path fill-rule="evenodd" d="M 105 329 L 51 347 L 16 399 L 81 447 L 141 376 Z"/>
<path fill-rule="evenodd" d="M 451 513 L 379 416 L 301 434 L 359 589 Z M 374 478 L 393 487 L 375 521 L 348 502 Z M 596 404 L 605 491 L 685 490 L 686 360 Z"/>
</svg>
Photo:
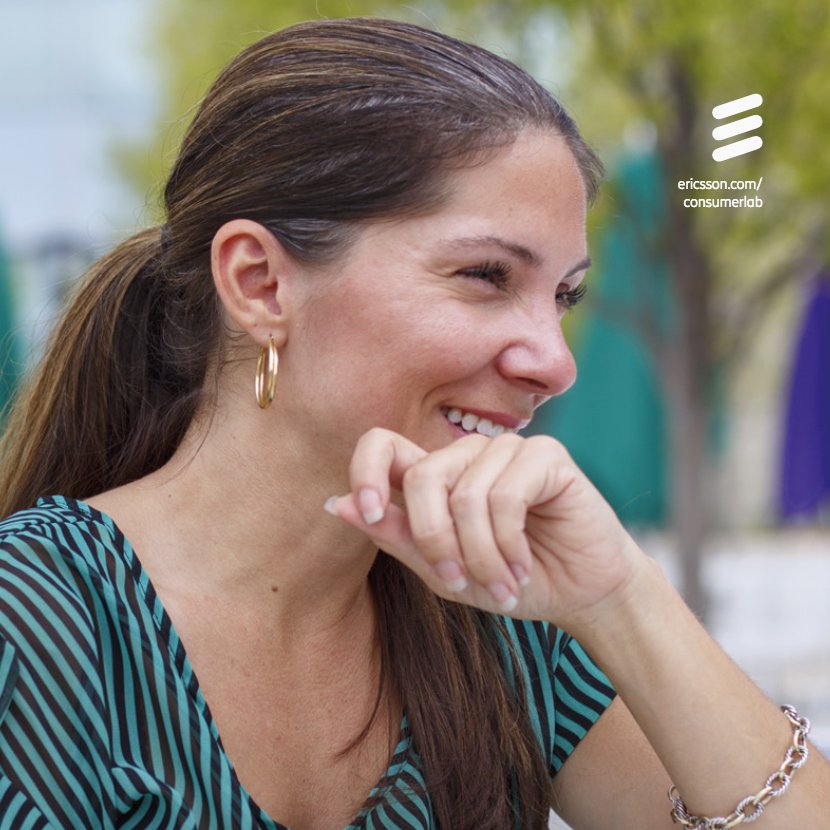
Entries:
<svg viewBox="0 0 830 830">
<path fill-rule="evenodd" d="M 213 237 L 211 271 L 231 320 L 264 346 L 285 341 L 288 286 L 297 262 L 263 225 L 250 219 L 226 222 Z"/>
</svg>

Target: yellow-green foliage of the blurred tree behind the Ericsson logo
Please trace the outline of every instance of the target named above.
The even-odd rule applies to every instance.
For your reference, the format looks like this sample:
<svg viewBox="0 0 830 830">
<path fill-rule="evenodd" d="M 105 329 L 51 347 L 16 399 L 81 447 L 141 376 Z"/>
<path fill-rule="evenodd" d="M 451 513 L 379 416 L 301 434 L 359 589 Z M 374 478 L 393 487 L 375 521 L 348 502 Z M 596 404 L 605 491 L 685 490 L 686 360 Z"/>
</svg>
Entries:
<svg viewBox="0 0 830 830">
<path fill-rule="evenodd" d="M 826 237 L 823 250 L 817 244 L 830 188 L 830 7 L 824 0 L 757 0 L 751 7 L 561 0 L 559 6 L 589 45 L 571 85 L 589 135 L 623 148 L 636 118 L 651 123 L 675 205 L 682 198 L 674 189 L 679 178 L 764 177 L 763 208 L 681 209 L 672 218 L 690 226 L 712 277 L 701 290 L 709 292 L 713 315 L 713 368 L 735 360 L 773 297 L 830 253 Z M 764 98 L 763 148 L 713 161 L 712 107 L 752 92 Z M 624 105 L 607 106 L 616 96 Z M 613 163 L 613 155 L 606 158 Z M 811 247 L 812 263 L 800 263 Z"/>
</svg>

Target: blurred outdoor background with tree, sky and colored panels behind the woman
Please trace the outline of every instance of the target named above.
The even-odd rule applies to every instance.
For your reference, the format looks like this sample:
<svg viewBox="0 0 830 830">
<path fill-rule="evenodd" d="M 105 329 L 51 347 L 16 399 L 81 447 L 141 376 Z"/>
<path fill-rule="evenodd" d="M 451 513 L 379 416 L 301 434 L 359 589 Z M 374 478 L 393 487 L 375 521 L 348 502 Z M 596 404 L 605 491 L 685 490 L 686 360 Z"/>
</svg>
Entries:
<svg viewBox="0 0 830 830">
<path fill-rule="evenodd" d="M 723 646 L 830 748 L 830 10 L 824 0 L 0 0 L 0 402 L 61 298 L 159 220 L 189 113 L 274 28 L 381 14 L 517 61 L 607 168 L 556 435 Z M 751 93 L 763 147 L 712 160 Z M 759 180 L 689 192 L 688 179 Z M 686 197 L 757 195 L 700 208 Z"/>
</svg>

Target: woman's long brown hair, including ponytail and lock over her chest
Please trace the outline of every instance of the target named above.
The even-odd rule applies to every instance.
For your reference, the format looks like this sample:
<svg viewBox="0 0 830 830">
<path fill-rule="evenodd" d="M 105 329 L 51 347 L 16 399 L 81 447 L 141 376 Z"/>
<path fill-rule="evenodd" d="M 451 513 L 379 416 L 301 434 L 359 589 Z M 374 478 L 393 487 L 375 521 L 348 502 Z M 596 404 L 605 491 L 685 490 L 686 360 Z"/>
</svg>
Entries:
<svg viewBox="0 0 830 830">
<path fill-rule="evenodd" d="M 572 120 L 484 49 L 404 23 L 335 19 L 245 50 L 184 138 L 166 224 L 92 267 L 13 408 L 2 515 L 47 493 L 85 498 L 146 475 L 210 408 L 223 338 L 209 252 L 223 223 L 253 219 L 299 259 L 327 261 L 358 223 L 440 204 L 449 167 L 526 127 L 565 139 L 592 199 L 601 166 Z M 501 830 L 521 816 L 546 827 L 547 770 L 492 620 L 438 600 L 388 557 L 371 578 L 378 700 L 384 684 L 400 695 L 439 824 Z"/>
</svg>

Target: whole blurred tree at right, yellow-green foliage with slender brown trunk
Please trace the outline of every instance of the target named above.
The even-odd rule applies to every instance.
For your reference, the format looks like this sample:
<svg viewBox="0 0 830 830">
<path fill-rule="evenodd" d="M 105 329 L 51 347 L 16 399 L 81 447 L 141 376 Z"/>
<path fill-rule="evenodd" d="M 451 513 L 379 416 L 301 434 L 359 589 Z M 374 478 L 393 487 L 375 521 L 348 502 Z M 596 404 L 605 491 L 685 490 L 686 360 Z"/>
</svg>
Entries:
<svg viewBox="0 0 830 830">
<path fill-rule="evenodd" d="M 560 0 L 557 5 L 576 39 L 588 45 L 571 86 L 573 98 L 585 105 L 583 128 L 592 136 L 605 133 L 608 140 L 635 120 L 653 125 L 654 152 L 665 175 L 662 232 L 645 241 L 653 256 L 668 263 L 676 325 L 654 326 L 645 316 L 631 322 L 649 342 L 662 381 L 683 589 L 702 615 L 707 499 L 715 492 L 707 452 L 714 392 L 747 352 L 774 297 L 812 277 L 827 255 L 823 229 L 830 165 L 823 160 L 830 128 L 830 8 L 823 0 L 758 0 L 751 13 L 741 4 L 700 0 Z M 528 2 L 528 13 L 536 7 Z M 612 97 L 616 106 L 598 108 L 592 100 L 596 87 L 605 90 L 596 103 Z M 715 162 L 712 108 L 756 92 L 764 98 L 764 147 Z M 609 112 L 617 114 L 616 123 Z M 761 176 L 758 194 L 676 189 L 687 179 Z M 761 196 L 763 207 L 683 206 L 687 196 L 740 195 Z M 627 205 L 620 201 L 614 210 L 624 213 Z M 643 271 L 646 278 L 657 274 Z M 659 289 L 640 286 L 644 307 Z"/>
</svg>

